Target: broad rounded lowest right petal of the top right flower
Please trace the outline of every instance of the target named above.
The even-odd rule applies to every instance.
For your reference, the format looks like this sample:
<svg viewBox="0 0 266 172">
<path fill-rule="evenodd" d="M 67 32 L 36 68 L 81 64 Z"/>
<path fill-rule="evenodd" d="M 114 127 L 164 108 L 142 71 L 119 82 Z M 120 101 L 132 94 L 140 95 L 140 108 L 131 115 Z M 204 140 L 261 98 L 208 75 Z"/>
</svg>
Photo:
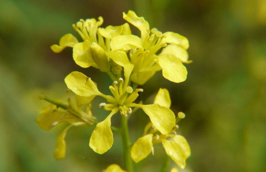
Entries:
<svg viewBox="0 0 266 172">
<path fill-rule="evenodd" d="M 174 55 L 159 56 L 158 63 L 162 67 L 163 76 L 175 83 L 183 82 L 187 79 L 187 69 L 182 62 Z"/>
</svg>

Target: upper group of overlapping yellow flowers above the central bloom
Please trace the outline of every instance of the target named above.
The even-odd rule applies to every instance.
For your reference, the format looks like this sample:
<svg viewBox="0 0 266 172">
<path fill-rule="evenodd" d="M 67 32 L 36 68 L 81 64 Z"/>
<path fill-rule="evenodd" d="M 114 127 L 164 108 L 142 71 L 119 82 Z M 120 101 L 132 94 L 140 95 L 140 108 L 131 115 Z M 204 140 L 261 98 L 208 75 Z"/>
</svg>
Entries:
<svg viewBox="0 0 266 172">
<path fill-rule="evenodd" d="M 54 52 L 65 47 L 73 48 L 73 59 L 81 67 L 95 67 L 107 72 L 113 81 L 121 77 L 122 67 L 130 66 L 130 80 L 143 85 L 156 71 L 162 70 L 163 76 L 172 82 L 183 82 L 187 78 L 187 69 L 183 63 L 190 63 L 187 49 L 188 39 L 178 33 L 162 33 L 156 28 L 150 29 L 149 23 L 138 17 L 134 11 L 123 13 L 123 18 L 137 27 L 141 36 L 131 33 L 128 23 L 120 26 L 99 27 L 103 18 L 81 19 L 73 24 L 81 38 L 68 33 L 59 45 L 52 45 Z"/>
</svg>

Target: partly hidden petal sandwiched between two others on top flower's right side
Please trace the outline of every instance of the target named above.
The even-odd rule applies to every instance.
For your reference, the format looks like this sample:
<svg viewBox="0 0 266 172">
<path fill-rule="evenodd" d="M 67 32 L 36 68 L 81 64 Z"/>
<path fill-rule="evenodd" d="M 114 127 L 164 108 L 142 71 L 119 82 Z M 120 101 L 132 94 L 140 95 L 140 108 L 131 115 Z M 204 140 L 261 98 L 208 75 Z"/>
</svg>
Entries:
<svg viewBox="0 0 266 172">
<path fill-rule="evenodd" d="M 183 63 L 189 63 L 191 61 L 188 61 L 189 55 L 188 52 L 180 47 L 180 46 L 176 46 L 176 45 L 167 45 L 162 52 L 160 53 L 160 55 L 167 55 L 167 54 L 172 54 L 174 55 L 176 58 L 178 58 L 180 61 L 182 61 Z"/>
</svg>

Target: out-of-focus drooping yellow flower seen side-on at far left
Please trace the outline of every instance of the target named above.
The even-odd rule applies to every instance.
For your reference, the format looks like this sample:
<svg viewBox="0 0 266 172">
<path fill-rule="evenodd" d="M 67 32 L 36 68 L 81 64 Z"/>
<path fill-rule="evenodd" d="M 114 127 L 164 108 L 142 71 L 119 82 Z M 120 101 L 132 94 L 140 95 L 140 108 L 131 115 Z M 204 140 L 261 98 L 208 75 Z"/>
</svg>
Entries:
<svg viewBox="0 0 266 172">
<path fill-rule="evenodd" d="M 65 135 L 68 129 L 72 126 L 90 127 L 94 125 L 96 118 L 92 116 L 90 111 L 91 105 L 89 104 L 94 96 L 82 97 L 76 95 L 76 103 L 73 103 L 69 97 L 68 105 L 55 102 L 43 94 L 41 94 L 39 97 L 40 99 L 50 102 L 50 104 L 43 107 L 43 110 L 40 112 L 40 117 L 35 120 L 41 129 L 50 130 L 61 122 L 66 122 L 69 124 L 56 140 L 54 157 L 56 159 L 62 159 L 65 157 Z M 80 106 L 85 104 L 89 104 L 87 106 L 86 112 L 80 109 Z"/>
</svg>

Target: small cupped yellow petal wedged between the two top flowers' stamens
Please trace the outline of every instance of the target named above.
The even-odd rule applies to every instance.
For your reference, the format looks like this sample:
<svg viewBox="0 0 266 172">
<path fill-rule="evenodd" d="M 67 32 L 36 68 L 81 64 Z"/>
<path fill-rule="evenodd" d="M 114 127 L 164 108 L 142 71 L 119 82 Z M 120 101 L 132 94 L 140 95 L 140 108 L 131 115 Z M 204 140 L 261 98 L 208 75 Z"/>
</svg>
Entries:
<svg viewBox="0 0 266 172">
<path fill-rule="evenodd" d="M 121 26 L 107 26 L 105 28 L 98 28 L 99 33 L 108 39 L 112 39 L 114 36 L 120 35 L 123 31 L 123 25 Z"/>
</svg>

